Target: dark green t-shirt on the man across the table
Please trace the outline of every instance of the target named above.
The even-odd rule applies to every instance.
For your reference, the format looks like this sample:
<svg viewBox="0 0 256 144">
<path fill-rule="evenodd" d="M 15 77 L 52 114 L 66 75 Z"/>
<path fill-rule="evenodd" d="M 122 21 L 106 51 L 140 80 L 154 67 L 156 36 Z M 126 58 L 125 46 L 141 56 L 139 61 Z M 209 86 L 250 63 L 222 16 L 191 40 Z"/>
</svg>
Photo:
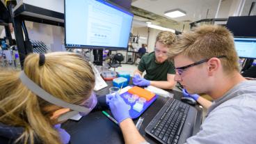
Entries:
<svg viewBox="0 0 256 144">
<path fill-rule="evenodd" d="M 156 63 L 154 52 L 145 54 L 138 65 L 138 70 L 146 71 L 145 79 L 150 81 L 167 81 L 167 74 L 175 74 L 173 63 L 166 60 L 163 63 Z"/>
</svg>

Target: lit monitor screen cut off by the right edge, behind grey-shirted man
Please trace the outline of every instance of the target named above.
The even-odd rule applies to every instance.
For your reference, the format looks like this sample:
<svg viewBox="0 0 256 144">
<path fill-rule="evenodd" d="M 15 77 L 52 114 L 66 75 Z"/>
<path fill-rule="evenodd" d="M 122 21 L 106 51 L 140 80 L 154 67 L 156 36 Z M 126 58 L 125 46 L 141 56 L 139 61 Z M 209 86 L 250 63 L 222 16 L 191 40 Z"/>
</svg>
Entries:
<svg viewBox="0 0 256 144">
<path fill-rule="evenodd" d="M 240 58 L 256 59 L 256 38 L 234 38 L 234 45 Z"/>
</svg>

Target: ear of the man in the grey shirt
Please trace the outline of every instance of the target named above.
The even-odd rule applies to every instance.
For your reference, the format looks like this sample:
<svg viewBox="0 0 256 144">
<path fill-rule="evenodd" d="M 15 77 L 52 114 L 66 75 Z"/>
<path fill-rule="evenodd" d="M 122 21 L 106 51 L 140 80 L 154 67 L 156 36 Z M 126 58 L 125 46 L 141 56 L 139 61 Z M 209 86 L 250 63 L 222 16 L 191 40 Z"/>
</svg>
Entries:
<svg viewBox="0 0 256 144">
<path fill-rule="evenodd" d="M 221 67 L 221 60 L 218 58 L 211 58 L 209 61 L 207 61 L 208 65 L 208 74 L 209 76 L 212 76 L 214 73 L 216 73 L 220 67 Z"/>
</svg>

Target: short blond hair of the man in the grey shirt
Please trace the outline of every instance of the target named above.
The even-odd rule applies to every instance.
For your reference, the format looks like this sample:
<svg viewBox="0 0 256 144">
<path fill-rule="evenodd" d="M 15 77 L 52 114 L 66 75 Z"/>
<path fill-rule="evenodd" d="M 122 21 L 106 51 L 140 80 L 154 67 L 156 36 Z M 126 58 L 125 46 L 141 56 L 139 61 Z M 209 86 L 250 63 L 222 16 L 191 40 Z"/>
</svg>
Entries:
<svg viewBox="0 0 256 144">
<path fill-rule="evenodd" d="M 237 52 L 234 49 L 234 38 L 223 26 L 203 25 L 192 31 L 179 35 L 175 47 L 169 49 L 168 56 L 172 59 L 183 54 L 193 61 L 202 58 L 226 56 L 221 58 L 225 72 L 239 71 Z"/>
</svg>

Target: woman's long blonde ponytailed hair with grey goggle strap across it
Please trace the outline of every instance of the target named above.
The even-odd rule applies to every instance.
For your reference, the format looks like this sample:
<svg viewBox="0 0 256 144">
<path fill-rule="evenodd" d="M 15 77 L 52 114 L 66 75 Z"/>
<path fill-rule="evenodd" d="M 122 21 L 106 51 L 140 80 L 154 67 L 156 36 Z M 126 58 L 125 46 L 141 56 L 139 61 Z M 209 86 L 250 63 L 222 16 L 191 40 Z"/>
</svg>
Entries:
<svg viewBox="0 0 256 144">
<path fill-rule="evenodd" d="M 24 61 L 25 74 L 49 94 L 71 104 L 81 104 L 90 97 L 95 76 L 90 64 L 79 54 L 54 52 L 45 54 L 45 64 L 39 65 L 39 55 L 29 54 Z M 20 72 L 0 71 L 0 122 L 24 127 L 19 143 L 61 143 L 58 131 L 50 119 L 61 109 L 35 95 L 19 79 Z M 52 108 L 51 111 L 47 108 Z"/>
</svg>

